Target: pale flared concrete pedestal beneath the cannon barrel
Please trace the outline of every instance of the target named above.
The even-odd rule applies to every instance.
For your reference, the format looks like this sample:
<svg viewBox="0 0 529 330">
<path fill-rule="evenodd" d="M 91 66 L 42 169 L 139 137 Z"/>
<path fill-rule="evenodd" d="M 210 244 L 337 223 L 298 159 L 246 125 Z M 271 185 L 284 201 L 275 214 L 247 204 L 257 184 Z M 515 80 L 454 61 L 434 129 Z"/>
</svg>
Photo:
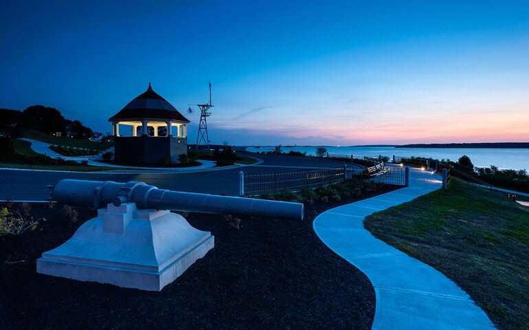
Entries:
<svg viewBox="0 0 529 330">
<path fill-rule="evenodd" d="M 214 247 L 214 236 L 169 211 L 109 204 L 66 243 L 44 252 L 37 272 L 161 291 Z"/>
</svg>

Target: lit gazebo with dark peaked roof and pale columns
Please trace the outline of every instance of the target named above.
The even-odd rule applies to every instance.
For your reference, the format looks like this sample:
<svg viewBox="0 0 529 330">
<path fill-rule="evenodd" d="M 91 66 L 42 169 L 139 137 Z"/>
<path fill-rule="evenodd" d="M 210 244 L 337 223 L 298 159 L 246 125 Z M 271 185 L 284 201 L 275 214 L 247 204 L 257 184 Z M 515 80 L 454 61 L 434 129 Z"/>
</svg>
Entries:
<svg viewBox="0 0 529 330">
<path fill-rule="evenodd" d="M 115 137 L 115 159 L 128 162 L 157 164 L 179 162 L 188 152 L 189 120 L 149 87 L 118 113 L 113 115 L 112 133 Z M 128 129 L 122 125 L 128 125 Z M 123 133 L 132 133 L 124 136 Z M 130 134 L 130 135 L 129 135 Z"/>
</svg>

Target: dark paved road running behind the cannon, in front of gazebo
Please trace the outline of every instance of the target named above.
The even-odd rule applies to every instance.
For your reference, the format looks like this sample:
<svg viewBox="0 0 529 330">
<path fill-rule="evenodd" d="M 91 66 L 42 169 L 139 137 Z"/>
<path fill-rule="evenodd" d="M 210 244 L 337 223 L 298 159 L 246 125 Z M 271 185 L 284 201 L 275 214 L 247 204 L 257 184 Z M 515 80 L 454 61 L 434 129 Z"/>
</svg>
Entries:
<svg viewBox="0 0 529 330">
<path fill-rule="evenodd" d="M 258 155 L 261 156 L 261 155 Z M 308 166 L 308 167 L 341 167 L 343 164 L 326 159 L 312 159 L 295 156 L 263 155 L 268 166 Z M 265 164 L 263 163 L 263 164 Z M 215 170 L 201 173 L 181 174 L 120 174 L 120 173 L 61 173 L 30 170 L 0 170 L 0 200 L 44 200 L 49 195 L 45 188 L 62 179 L 83 179 L 99 181 L 144 181 L 158 188 L 208 194 L 238 194 L 239 171 L 245 173 L 284 172 L 285 167 L 245 166 L 230 170 Z M 295 168 L 299 170 L 299 168 Z"/>
</svg>

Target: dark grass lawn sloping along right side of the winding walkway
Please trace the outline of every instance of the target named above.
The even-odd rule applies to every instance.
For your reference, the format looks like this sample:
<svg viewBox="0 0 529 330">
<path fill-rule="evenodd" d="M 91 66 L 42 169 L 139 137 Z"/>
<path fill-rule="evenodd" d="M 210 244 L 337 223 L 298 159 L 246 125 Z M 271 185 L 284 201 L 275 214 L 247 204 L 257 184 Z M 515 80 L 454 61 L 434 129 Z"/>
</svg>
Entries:
<svg viewBox="0 0 529 330">
<path fill-rule="evenodd" d="M 529 329 L 529 207 L 453 178 L 365 228 L 451 278 L 499 329 Z"/>
</svg>

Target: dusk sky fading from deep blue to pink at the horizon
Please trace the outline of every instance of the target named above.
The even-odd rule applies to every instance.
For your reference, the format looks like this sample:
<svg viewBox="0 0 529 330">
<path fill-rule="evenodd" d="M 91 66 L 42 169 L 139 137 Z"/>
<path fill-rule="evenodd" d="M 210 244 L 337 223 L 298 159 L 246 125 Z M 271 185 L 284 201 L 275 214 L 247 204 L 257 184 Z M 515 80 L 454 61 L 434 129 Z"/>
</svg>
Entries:
<svg viewBox="0 0 529 330">
<path fill-rule="evenodd" d="M 80 3 L 84 2 L 84 3 Z M 529 1 L 1 1 L 0 107 L 153 89 L 214 144 L 529 141 Z"/>
</svg>

